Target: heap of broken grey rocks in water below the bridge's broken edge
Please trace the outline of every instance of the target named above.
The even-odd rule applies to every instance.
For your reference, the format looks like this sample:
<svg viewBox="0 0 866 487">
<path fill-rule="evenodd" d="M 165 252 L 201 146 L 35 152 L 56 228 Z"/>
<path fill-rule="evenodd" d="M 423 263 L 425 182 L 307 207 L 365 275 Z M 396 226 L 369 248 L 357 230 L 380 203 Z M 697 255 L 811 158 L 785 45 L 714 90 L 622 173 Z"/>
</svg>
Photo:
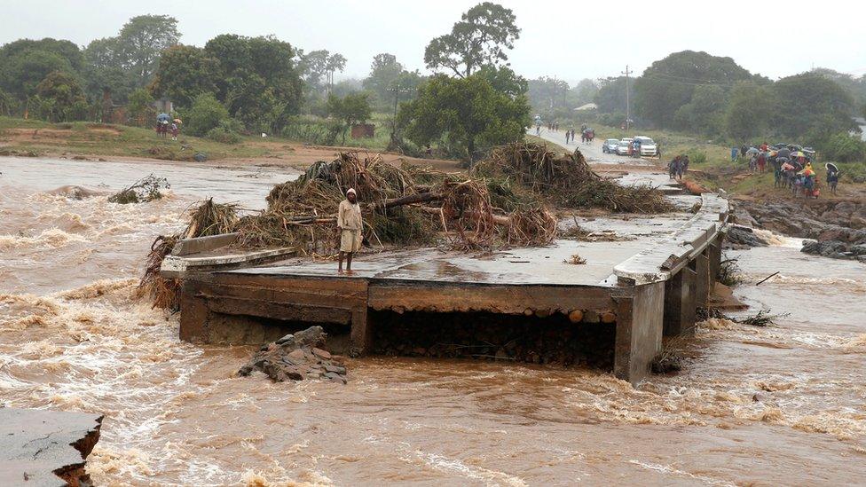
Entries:
<svg viewBox="0 0 866 487">
<path fill-rule="evenodd" d="M 326 336 L 321 326 L 287 334 L 264 345 L 247 365 L 240 367 L 238 375 L 247 376 L 257 370 L 277 382 L 325 379 L 345 384 L 346 366 L 342 358 L 322 350 Z"/>
</svg>

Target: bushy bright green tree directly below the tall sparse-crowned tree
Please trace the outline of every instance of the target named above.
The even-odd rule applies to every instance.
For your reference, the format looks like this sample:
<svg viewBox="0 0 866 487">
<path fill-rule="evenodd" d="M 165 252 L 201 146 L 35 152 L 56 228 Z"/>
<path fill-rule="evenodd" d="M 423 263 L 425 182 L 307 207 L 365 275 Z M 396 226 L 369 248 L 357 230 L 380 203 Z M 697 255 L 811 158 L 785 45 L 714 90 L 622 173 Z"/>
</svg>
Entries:
<svg viewBox="0 0 866 487">
<path fill-rule="evenodd" d="M 492 145 L 521 140 L 531 122 L 525 95 L 494 90 L 483 75 L 430 78 L 401 106 L 398 119 L 415 144 L 444 143 L 470 163 Z"/>
</svg>

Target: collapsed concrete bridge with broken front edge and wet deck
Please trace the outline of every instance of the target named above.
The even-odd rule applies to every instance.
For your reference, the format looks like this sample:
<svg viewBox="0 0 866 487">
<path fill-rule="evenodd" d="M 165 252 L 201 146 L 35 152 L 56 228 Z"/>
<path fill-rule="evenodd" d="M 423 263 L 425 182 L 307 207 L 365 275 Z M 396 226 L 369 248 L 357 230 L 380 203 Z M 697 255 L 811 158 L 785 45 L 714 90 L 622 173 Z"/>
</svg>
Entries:
<svg viewBox="0 0 866 487">
<path fill-rule="evenodd" d="M 482 323 L 495 330 L 497 322 L 524 326 L 527 333 L 583 326 L 606 337 L 588 346 L 609 352 L 613 372 L 636 383 L 664 335 L 691 332 L 718 274 L 728 201 L 704 194 L 700 202 L 694 215 L 594 222 L 623 227 L 629 240 L 556 240 L 481 256 L 434 248 L 385 251 L 359 257 L 352 275 L 285 250 L 226 255 L 213 247 L 232 241 L 231 235 L 204 238 L 178 246 L 182 255 L 166 258 L 162 273 L 184 279 L 180 334 L 188 341 L 262 343 L 319 324 L 330 326 L 332 336 L 345 335 L 344 350 L 366 355 L 377 350 L 377 328 L 395 323 L 426 323 L 422 334 L 455 322 L 455 333 Z M 587 263 L 566 262 L 574 254 Z M 557 340 L 555 334 L 545 339 Z M 527 357 L 539 361 L 540 353 Z"/>
</svg>

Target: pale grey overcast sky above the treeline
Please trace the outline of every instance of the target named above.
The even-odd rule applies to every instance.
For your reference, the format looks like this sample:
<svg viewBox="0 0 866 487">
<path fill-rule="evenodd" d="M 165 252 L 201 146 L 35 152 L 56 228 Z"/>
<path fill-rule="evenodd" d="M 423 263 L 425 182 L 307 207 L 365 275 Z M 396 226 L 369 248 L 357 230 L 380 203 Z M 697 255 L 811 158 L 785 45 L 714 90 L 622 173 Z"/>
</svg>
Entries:
<svg viewBox="0 0 866 487">
<path fill-rule="evenodd" d="M 305 51 L 349 59 L 343 77 L 364 77 L 379 52 L 426 72 L 424 47 L 451 30 L 477 1 L 460 0 L 0 0 L 0 43 L 55 37 L 85 45 L 116 35 L 146 13 L 179 21 L 182 43 L 214 35 L 274 34 Z M 570 82 L 638 74 L 654 60 L 686 49 L 729 56 L 771 78 L 815 67 L 866 74 L 866 2 L 848 0 L 511 1 L 522 29 L 511 66 L 529 78 Z M 592 5 L 587 7 L 586 5 Z M 814 26 L 814 27 L 813 27 Z"/>
</svg>

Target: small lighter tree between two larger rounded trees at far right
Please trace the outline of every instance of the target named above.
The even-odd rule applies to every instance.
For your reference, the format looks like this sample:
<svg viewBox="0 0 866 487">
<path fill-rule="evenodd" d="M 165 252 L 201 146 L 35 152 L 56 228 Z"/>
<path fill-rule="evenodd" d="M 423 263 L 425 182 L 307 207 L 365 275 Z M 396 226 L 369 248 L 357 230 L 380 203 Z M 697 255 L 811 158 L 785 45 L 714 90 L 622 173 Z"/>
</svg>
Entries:
<svg viewBox="0 0 866 487">
<path fill-rule="evenodd" d="M 737 142 L 767 133 L 775 109 L 773 93 L 755 82 L 738 82 L 730 93 L 725 132 Z"/>
</svg>

